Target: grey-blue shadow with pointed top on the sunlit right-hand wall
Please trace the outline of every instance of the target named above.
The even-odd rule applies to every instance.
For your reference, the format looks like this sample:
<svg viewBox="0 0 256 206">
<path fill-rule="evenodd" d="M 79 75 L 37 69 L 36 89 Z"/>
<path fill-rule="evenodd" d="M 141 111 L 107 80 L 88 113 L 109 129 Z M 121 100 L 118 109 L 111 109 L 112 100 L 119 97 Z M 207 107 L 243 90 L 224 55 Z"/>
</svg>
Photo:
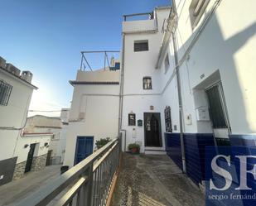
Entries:
<svg viewBox="0 0 256 206">
<path fill-rule="evenodd" d="M 198 32 L 198 28 L 194 32 Z M 181 79 L 181 84 L 183 82 L 182 96 L 184 98 L 185 81 L 190 82 L 192 87 L 195 88 L 198 86 L 196 84 L 201 81 L 200 74 L 207 73 L 207 70 L 210 70 L 211 74 L 213 74 L 216 69 L 220 69 L 220 78 L 225 93 L 225 102 L 229 113 L 231 129 L 237 134 L 242 134 L 242 132 L 255 132 L 248 121 L 249 113 L 247 113 L 244 103 L 244 99 L 246 98 L 244 97 L 244 92 L 246 89 L 244 89 L 243 85 L 239 82 L 238 71 L 240 68 L 239 65 L 236 65 L 234 60 L 234 55 L 238 50 L 243 48 L 252 36 L 255 36 L 255 32 L 256 23 L 225 40 L 218 19 L 216 15 L 213 15 L 208 25 L 205 26 L 205 30 L 201 33 L 199 40 L 196 41 L 195 46 L 191 50 L 191 58 L 187 64 L 189 65 L 189 68 L 187 68 L 187 79 L 184 79 L 184 77 Z M 183 54 L 183 51 L 190 46 L 193 37 L 194 36 L 191 36 L 191 38 L 181 46 L 178 50 L 178 54 Z M 239 60 L 241 60 L 241 57 L 239 58 Z M 185 64 L 186 62 L 183 65 Z M 243 68 L 243 72 L 248 73 L 249 68 Z"/>
</svg>

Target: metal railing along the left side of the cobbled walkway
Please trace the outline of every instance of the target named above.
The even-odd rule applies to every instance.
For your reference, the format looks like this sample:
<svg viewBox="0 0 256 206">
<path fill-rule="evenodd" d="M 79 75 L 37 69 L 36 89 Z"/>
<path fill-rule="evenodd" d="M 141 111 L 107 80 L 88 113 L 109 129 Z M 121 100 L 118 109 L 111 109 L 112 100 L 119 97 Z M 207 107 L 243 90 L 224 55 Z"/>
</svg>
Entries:
<svg viewBox="0 0 256 206">
<path fill-rule="evenodd" d="M 18 206 L 106 205 L 122 153 L 121 137 L 95 151 L 55 180 L 23 199 Z"/>
</svg>

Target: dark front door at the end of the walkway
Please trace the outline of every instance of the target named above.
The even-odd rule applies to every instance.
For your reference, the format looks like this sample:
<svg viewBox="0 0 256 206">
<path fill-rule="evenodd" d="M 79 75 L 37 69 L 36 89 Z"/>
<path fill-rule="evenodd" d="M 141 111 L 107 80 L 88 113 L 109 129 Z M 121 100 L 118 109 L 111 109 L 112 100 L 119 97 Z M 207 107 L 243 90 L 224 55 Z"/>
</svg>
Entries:
<svg viewBox="0 0 256 206">
<path fill-rule="evenodd" d="M 160 113 L 144 113 L 145 146 L 162 146 Z"/>
</svg>

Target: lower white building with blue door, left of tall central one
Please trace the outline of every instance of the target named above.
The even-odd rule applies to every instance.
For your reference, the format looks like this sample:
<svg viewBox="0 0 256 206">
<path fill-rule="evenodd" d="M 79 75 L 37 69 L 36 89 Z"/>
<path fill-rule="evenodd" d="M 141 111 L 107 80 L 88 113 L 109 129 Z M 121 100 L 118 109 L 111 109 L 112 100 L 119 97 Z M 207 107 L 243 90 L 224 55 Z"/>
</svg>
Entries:
<svg viewBox="0 0 256 206">
<path fill-rule="evenodd" d="M 74 81 L 64 165 L 89 156 L 100 138 L 118 137 L 119 70 L 77 72 Z"/>
</svg>

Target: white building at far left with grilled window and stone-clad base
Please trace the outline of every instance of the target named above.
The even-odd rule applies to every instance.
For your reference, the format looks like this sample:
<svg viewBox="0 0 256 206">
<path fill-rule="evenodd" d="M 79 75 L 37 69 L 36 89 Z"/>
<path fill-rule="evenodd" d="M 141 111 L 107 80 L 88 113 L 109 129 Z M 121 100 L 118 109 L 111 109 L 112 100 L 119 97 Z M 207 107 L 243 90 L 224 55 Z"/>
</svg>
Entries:
<svg viewBox="0 0 256 206">
<path fill-rule="evenodd" d="M 23 135 L 33 89 L 32 74 L 0 58 L 0 185 L 41 169 L 50 137 Z"/>
</svg>

